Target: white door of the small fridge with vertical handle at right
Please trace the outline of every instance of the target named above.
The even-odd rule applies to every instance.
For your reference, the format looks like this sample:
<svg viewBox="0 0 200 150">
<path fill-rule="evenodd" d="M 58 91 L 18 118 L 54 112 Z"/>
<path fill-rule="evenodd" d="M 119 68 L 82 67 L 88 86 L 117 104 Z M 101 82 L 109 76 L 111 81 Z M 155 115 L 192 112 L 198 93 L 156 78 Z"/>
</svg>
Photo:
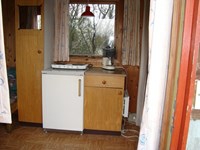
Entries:
<svg viewBox="0 0 200 150">
<path fill-rule="evenodd" d="M 83 131 L 83 76 L 42 74 L 43 128 Z"/>
</svg>

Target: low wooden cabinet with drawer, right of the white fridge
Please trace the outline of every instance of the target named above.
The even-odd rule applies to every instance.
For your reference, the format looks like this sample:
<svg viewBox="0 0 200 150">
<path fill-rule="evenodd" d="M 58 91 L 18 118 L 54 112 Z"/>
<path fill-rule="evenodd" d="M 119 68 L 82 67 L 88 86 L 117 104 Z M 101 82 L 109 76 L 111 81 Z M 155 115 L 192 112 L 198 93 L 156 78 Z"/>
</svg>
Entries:
<svg viewBox="0 0 200 150">
<path fill-rule="evenodd" d="M 121 131 L 124 79 L 121 69 L 85 73 L 84 129 Z"/>
</svg>

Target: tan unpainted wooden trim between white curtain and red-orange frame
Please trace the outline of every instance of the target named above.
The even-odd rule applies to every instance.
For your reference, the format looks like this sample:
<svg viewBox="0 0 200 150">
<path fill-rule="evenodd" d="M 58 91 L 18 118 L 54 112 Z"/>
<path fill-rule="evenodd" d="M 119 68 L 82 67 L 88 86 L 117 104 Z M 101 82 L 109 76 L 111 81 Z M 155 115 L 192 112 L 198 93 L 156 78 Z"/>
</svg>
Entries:
<svg viewBox="0 0 200 150">
<path fill-rule="evenodd" d="M 184 19 L 185 1 L 174 1 L 174 13 L 172 21 L 172 35 L 171 35 L 171 48 L 170 48 L 170 60 L 169 71 L 167 79 L 167 90 L 165 97 L 165 105 L 162 120 L 162 132 L 160 139 L 160 149 L 169 149 L 170 146 L 170 134 L 172 124 L 173 104 L 175 101 L 175 91 L 177 91 L 177 79 L 179 74 L 181 45 L 182 45 L 182 32 Z M 173 88 L 172 88 L 173 87 Z"/>
</svg>

